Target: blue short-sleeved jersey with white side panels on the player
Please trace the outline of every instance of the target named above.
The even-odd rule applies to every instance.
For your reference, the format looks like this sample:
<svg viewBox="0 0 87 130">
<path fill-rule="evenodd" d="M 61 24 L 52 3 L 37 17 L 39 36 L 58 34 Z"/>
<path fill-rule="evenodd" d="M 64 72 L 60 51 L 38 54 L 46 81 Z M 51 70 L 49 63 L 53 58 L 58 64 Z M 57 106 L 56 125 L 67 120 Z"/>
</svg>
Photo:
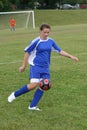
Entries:
<svg viewBox="0 0 87 130">
<path fill-rule="evenodd" d="M 25 48 L 25 52 L 30 55 L 28 62 L 33 66 L 49 67 L 51 51 L 59 53 L 61 48 L 49 37 L 46 40 L 37 37 Z"/>
</svg>

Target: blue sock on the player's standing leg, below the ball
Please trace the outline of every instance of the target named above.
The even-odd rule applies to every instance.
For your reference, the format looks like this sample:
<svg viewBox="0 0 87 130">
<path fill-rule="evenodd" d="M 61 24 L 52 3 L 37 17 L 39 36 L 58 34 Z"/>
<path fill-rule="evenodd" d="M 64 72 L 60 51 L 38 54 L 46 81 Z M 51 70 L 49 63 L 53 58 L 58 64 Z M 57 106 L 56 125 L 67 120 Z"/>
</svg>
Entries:
<svg viewBox="0 0 87 130">
<path fill-rule="evenodd" d="M 30 107 L 36 107 L 38 102 L 40 101 L 41 97 L 43 96 L 44 91 L 40 90 L 39 88 L 36 90 L 33 100 L 30 104 Z"/>
</svg>

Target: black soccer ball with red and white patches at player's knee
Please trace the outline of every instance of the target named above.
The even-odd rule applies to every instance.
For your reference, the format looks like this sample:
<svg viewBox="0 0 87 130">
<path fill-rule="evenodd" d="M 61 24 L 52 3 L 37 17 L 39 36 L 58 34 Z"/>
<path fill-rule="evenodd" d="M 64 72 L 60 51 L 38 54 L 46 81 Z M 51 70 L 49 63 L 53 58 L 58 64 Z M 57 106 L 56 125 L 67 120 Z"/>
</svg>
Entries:
<svg viewBox="0 0 87 130">
<path fill-rule="evenodd" d="M 40 81 L 39 86 L 42 90 L 47 91 L 52 87 L 52 83 L 48 79 L 43 79 Z"/>
</svg>

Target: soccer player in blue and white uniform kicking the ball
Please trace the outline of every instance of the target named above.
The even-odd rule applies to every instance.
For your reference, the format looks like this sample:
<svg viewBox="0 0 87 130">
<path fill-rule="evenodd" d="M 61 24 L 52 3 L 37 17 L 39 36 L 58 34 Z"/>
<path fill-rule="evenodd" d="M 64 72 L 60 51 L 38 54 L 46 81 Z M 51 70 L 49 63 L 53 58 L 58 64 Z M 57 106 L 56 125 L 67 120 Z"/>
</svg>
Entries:
<svg viewBox="0 0 87 130">
<path fill-rule="evenodd" d="M 55 51 L 62 56 L 72 59 L 73 61 L 78 61 L 77 57 L 62 50 L 52 38 L 48 37 L 50 30 L 50 25 L 42 24 L 40 26 L 40 36 L 32 40 L 25 48 L 23 64 L 19 68 L 19 71 L 23 72 L 27 63 L 30 64 L 30 84 L 25 84 L 19 90 L 12 92 L 8 97 L 8 102 L 12 102 L 18 96 L 30 92 L 37 87 L 28 109 L 40 110 L 37 107 L 37 104 L 43 96 L 44 90 L 39 87 L 39 82 L 41 79 L 50 80 L 49 66 L 51 51 Z"/>
</svg>

